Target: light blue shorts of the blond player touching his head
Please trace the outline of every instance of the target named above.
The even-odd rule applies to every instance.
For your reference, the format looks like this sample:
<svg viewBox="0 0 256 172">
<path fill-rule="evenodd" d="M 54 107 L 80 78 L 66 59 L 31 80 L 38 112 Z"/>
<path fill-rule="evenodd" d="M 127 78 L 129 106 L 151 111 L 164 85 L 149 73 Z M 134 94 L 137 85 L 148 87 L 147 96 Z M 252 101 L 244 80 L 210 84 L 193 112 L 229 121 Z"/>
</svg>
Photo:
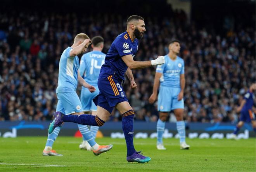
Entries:
<svg viewBox="0 0 256 172">
<path fill-rule="evenodd" d="M 57 93 L 58 103 L 56 111 L 66 115 L 76 112 L 83 112 L 80 99 L 75 91 L 67 93 Z"/>
</svg>

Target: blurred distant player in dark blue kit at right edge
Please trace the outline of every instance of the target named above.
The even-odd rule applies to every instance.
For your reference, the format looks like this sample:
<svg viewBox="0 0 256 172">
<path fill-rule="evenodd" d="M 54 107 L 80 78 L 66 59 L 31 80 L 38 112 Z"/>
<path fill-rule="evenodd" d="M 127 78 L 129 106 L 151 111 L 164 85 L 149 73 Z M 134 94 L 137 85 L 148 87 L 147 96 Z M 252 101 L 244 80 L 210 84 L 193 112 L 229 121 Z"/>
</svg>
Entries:
<svg viewBox="0 0 256 172">
<path fill-rule="evenodd" d="M 239 132 L 240 128 L 244 125 L 245 122 L 251 122 L 253 125 L 253 130 L 256 132 L 256 123 L 255 123 L 255 116 L 252 112 L 252 107 L 254 103 L 254 95 L 253 93 L 256 91 L 256 84 L 252 84 L 249 90 L 244 95 L 244 99 L 242 100 L 239 107 L 237 107 L 237 112 L 241 112 L 240 121 L 237 124 L 233 135 L 231 138 L 237 139 L 237 133 Z M 254 109 L 255 110 L 255 109 Z"/>
</svg>

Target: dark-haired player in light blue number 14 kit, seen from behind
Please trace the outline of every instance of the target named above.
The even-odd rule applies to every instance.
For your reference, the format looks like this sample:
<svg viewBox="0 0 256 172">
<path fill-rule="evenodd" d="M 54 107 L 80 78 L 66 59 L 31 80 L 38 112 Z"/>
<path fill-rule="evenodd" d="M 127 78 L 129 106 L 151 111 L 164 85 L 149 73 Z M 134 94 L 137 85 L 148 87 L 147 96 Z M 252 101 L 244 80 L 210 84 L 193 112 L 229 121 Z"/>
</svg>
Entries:
<svg viewBox="0 0 256 172">
<path fill-rule="evenodd" d="M 91 52 L 88 52 L 84 54 L 80 61 L 80 67 L 79 72 L 81 77 L 85 79 L 86 83 L 94 86 L 96 88 L 96 91 L 91 93 L 88 89 L 85 87 L 82 87 L 81 91 L 81 104 L 83 106 L 83 111 L 85 114 L 91 113 L 92 115 L 96 115 L 97 107 L 93 103 L 92 99 L 99 94 L 99 88 L 97 86 L 98 77 L 100 74 L 100 67 L 102 64 L 104 64 L 105 56 L 102 51 L 104 47 L 104 39 L 101 36 L 96 36 L 92 38 L 92 48 L 93 50 Z M 80 149 L 85 150 L 92 150 L 92 147 L 88 142 L 94 142 L 93 140 L 90 140 L 91 138 L 87 137 L 90 132 L 89 128 L 85 125 L 80 125 L 79 130 L 81 134 L 83 135 L 83 142 L 81 145 L 79 145 Z M 93 139 L 96 138 L 96 134 L 99 130 L 99 126 L 90 126 L 90 131 L 92 132 Z M 86 140 L 88 139 L 88 140 Z"/>
</svg>

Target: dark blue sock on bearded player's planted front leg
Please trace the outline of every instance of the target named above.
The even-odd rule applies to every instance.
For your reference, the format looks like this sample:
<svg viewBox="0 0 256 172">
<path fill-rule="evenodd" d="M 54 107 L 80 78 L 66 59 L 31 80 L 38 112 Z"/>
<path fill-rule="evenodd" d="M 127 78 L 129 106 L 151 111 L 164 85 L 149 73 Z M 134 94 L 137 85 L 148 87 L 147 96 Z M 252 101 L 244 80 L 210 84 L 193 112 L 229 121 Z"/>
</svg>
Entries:
<svg viewBox="0 0 256 172">
<path fill-rule="evenodd" d="M 127 157 L 131 156 L 134 152 L 136 152 L 133 146 L 133 116 L 134 111 L 129 110 L 123 113 L 122 119 L 123 132 L 125 134 L 125 141 L 127 147 Z"/>
</svg>

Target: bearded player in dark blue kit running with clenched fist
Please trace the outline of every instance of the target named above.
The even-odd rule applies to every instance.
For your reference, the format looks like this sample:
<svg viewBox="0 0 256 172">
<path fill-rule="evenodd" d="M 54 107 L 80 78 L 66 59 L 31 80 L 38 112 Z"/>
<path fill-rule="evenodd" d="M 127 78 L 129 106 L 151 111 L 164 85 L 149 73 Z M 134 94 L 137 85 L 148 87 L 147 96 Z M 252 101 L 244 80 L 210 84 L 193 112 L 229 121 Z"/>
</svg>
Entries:
<svg viewBox="0 0 256 172">
<path fill-rule="evenodd" d="M 133 116 L 134 111 L 128 103 L 122 83 L 126 73 L 130 80 L 130 88 L 135 89 L 131 69 L 142 69 L 152 65 L 164 64 L 164 57 L 159 56 L 152 61 L 133 61 L 138 50 L 138 40 L 143 37 L 145 29 L 144 19 L 138 15 L 128 18 L 127 31 L 118 35 L 107 52 L 105 64 L 100 69 L 98 87 L 100 90 L 93 102 L 97 105 L 97 113 L 92 115 L 63 115 L 60 112 L 54 114 L 55 118 L 50 124 L 49 133 L 62 122 L 74 122 L 83 125 L 102 126 L 109 118 L 114 107 L 122 114 L 122 126 L 125 134 L 128 162 L 149 162 L 151 159 L 141 155 L 133 146 Z"/>
</svg>

